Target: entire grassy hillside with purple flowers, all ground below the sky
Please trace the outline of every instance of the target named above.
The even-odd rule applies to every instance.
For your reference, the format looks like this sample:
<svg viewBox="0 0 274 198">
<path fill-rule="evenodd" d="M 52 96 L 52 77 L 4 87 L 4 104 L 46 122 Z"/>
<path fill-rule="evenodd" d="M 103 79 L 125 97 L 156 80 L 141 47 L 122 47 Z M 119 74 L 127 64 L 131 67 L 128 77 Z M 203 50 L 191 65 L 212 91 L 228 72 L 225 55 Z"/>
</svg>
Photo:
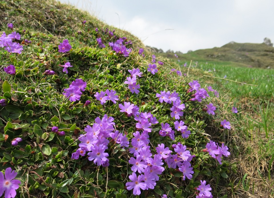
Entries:
<svg viewBox="0 0 274 198">
<path fill-rule="evenodd" d="M 270 48 L 155 58 L 53 0 L 0 0 L 0 31 L 0 193 L 11 168 L 17 197 L 204 197 L 203 181 L 213 197 L 273 197 Z"/>
</svg>

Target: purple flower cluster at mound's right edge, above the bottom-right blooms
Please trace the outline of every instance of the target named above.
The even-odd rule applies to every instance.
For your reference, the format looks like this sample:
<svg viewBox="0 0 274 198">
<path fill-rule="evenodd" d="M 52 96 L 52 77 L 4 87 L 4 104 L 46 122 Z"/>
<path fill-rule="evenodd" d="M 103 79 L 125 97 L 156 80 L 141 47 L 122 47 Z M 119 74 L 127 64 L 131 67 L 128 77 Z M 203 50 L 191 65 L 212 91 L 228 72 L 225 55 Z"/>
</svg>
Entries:
<svg viewBox="0 0 274 198">
<path fill-rule="evenodd" d="M 228 157 L 230 155 L 230 152 L 228 151 L 228 147 L 225 146 L 222 143 L 222 146 L 219 146 L 212 140 L 209 141 L 209 143 L 206 144 L 206 149 L 204 151 L 207 151 L 211 157 L 214 159 L 217 159 L 220 164 L 222 161 L 222 156 Z"/>
</svg>

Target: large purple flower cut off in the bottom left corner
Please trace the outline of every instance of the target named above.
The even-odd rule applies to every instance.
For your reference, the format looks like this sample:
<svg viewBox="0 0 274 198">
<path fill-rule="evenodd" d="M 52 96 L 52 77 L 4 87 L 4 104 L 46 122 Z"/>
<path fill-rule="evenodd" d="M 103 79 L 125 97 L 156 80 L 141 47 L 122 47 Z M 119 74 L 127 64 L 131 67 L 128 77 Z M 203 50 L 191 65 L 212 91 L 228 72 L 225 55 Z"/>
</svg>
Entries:
<svg viewBox="0 0 274 198">
<path fill-rule="evenodd" d="M 13 198 L 16 196 L 16 191 L 19 188 L 20 180 L 14 179 L 17 176 L 15 171 L 11 171 L 8 167 L 5 170 L 5 177 L 2 172 L 0 172 L 0 196 L 5 192 L 5 198 Z"/>
</svg>

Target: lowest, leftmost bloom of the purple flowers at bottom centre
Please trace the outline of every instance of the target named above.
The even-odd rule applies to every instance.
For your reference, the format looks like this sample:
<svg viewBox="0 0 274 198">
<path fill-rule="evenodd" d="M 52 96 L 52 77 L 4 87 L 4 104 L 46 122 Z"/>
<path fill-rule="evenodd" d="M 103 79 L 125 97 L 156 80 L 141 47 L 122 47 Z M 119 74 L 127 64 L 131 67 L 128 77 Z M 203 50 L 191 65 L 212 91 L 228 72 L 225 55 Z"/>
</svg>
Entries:
<svg viewBox="0 0 274 198">
<path fill-rule="evenodd" d="M 129 179 L 131 180 L 130 182 L 126 183 L 126 189 L 131 190 L 133 189 L 133 195 L 140 195 L 142 190 L 146 189 L 146 183 L 143 182 L 143 178 L 141 175 L 138 176 L 136 173 L 132 173 L 132 175 L 128 176 Z"/>
</svg>

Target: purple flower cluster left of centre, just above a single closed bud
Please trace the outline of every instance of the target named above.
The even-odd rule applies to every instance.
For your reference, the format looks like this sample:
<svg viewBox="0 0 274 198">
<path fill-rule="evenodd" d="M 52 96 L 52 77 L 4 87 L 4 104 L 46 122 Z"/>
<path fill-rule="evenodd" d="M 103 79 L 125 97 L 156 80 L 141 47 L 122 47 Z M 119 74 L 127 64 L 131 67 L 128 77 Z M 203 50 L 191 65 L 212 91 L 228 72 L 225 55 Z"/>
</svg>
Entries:
<svg viewBox="0 0 274 198">
<path fill-rule="evenodd" d="M 86 82 L 79 78 L 72 81 L 69 88 L 64 89 L 63 95 L 66 96 L 66 98 L 69 98 L 70 102 L 75 102 L 76 100 L 80 100 L 82 92 L 85 88 Z"/>
</svg>

